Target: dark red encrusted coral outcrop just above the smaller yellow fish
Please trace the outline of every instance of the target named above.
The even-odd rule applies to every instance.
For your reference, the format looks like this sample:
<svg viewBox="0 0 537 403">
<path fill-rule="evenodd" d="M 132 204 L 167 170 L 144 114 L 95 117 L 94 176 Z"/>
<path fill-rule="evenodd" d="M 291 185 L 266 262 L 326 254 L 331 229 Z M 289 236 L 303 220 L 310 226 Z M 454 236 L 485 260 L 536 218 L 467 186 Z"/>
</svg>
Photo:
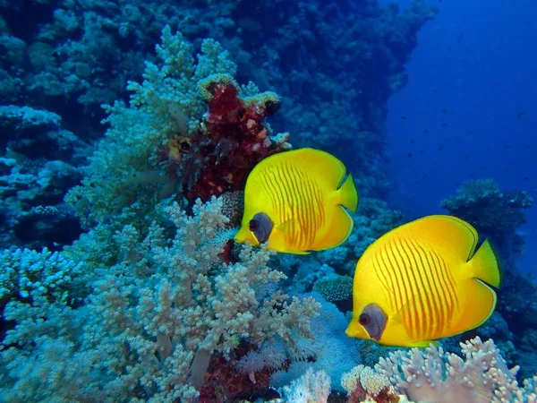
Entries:
<svg viewBox="0 0 537 403">
<path fill-rule="evenodd" d="M 207 201 L 212 195 L 243 190 L 251 169 L 261 159 L 288 148 L 287 138 L 272 138 L 264 124 L 265 117 L 279 107 L 276 94 L 242 98 L 233 78 L 225 74 L 202 81 L 200 92 L 208 104 L 200 133 L 189 144 L 170 140 L 164 153 L 175 157 L 168 162 L 183 179 L 189 201 Z M 184 150 L 177 151 L 178 144 Z M 178 153 L 181 159 L 177 163 Z"/>
</svg>

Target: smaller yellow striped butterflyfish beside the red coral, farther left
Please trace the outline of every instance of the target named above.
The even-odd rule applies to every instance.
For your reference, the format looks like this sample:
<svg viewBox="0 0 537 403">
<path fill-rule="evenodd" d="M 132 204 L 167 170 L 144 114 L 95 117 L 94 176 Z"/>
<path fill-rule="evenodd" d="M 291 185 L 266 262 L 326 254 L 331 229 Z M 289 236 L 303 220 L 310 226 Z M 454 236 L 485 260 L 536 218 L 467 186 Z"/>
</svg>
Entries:
<svg viewBox="0 0 537 403">
<path fill-rule="evenodd" d="M 246 181 L 236 242 L 309 253 L 343 244 L 353 230 L 348 210 L 358 193 L 345 165 L 328 152 L 299 149 L 263 159 Z M 343 182 L 343 184 L 342 184 Z"/>
</svg>

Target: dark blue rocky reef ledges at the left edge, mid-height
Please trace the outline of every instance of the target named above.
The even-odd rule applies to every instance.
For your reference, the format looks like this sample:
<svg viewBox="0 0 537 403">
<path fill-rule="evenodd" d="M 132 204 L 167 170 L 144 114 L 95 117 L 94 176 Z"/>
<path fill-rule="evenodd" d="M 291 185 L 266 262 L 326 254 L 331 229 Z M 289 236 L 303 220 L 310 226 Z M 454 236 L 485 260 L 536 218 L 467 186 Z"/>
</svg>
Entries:
<svg viewBox="0 0 537 403">
<path fill-rule="evenodd" d="M 0 244 L 58 250 L 81 234 L 64 195 L 87 146 L 47 110 L 0 106 Z"/>
</svg>

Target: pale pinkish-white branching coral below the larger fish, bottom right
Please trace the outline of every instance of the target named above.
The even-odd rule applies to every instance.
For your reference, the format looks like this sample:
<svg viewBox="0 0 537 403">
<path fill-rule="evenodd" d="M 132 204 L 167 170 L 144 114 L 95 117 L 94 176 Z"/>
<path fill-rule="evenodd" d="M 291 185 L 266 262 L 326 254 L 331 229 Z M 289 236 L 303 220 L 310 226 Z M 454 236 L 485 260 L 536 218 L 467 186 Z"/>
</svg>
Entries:
<svg viewBox="0 0 537 403">
<path fill-rule="evenodd" d="M 516 382 L 518 368 L 508 369 L 492 340 L 461 343 L 464 358 L 441 347 L 390 353 L 376 370 L 388 376 L 396 390 L 412 400 L 439 403 L 524 403 L 537 395 Z M 531 382 L 526 382 L 530 384 Z"/>
</svg>

